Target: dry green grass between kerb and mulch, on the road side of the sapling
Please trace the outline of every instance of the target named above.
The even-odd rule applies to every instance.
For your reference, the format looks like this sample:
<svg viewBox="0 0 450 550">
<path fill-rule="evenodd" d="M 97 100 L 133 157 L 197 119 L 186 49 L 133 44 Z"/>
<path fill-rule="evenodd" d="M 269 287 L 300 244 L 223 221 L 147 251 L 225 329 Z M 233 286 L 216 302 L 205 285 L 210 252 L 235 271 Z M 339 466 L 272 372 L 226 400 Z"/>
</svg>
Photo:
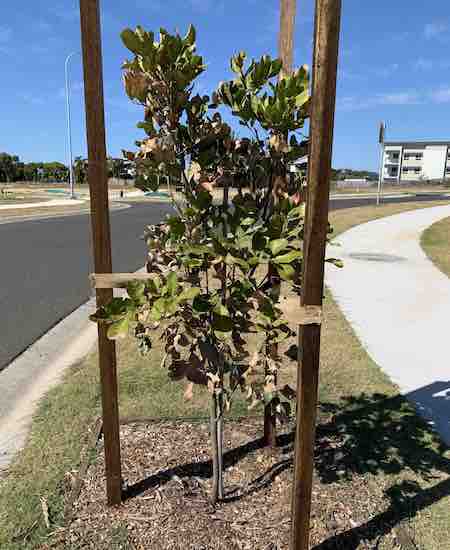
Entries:
<svg viewBox="0 0 450 550">
<path fill-rule="evenodd" d="M 119 407 L 121 418 L 147 416 L 207 417 L 205 390 L 195 388 L 194 399 L 183 398 L 184 383 L 173 382 L 160 367 L 162 349 L 156 345 L 143 359 L 133 341 L 118 345 Z M 236 399 L 231 414 L 247 409 Z M 100 415 L 97 354 L 92 353 L 65 376 L 40 403 L 31 435 L 18 454 L 9 475 L 0 482 L 0 549 L 35 548 L 48 535 L 40 498 L 48 501 L 52 527 L 63 524 L 64 479 L 77 470 L 87 439 L 87 427 Z M 35 523 L 37 522 L 37 523 Z M 35 525 L 29 538 L 22 536 Z"/>
</svg>

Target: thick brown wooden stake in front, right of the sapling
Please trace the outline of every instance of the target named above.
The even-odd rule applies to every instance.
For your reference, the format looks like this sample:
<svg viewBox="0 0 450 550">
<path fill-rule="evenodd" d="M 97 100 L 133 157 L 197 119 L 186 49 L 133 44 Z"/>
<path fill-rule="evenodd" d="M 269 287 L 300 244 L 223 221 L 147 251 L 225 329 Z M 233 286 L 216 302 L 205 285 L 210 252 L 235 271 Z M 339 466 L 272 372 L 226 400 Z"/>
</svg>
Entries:
<svg viewBox="0 0 450 550">
<path fill-rule="evenodd" d="M 328 227 L 341 0 L 316 0 L 311 139 L 306 205 L 303 306 L 321 305 Z M 292 550 L 308 550 L 319 381 L 320 326 L 300 328 L 297 429 L 292 498 Z"/>
</svg>

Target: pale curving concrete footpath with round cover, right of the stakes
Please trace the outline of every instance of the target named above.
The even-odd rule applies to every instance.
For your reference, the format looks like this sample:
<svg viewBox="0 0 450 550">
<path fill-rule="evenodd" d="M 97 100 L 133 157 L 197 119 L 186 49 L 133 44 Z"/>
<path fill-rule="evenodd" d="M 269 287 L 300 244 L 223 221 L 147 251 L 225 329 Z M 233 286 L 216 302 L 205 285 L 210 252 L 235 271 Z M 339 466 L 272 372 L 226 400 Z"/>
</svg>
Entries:
<svg viewBox="0 0 450 550">
<path fill-rule="evenodd" d="M 372 359 L 450 445 L 450 279 L 427 258 L 422 232 L 450 205 L 371 221 L 336 238 L 326 284 Z M 450 236 L 449 236 L 450 241 Z"/>
</svg>

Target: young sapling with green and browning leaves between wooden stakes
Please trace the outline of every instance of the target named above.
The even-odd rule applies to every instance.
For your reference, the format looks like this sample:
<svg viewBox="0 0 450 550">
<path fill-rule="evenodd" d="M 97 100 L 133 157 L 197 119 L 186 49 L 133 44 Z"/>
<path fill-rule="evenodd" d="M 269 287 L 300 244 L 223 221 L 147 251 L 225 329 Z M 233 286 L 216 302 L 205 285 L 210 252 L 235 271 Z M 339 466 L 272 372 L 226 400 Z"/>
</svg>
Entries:
<svg viewBox="0 0 450 550">
<path fill-rule="evenodd" d="M 169 176 L 184 191 L 169 186 L 175 213 L 146 229 L 148 279 L 130 282 L 127 296 L 93 319 L 109 325 L 110 338 L 131 330 L 143 353 L 158 331 L 163 366 L 186 380 L 185 397 L 207 387 L 216 502 L 233 395 L 243 392 L 250 408 L 264 403 L 280 419 L 289 417 L 295 396 L 279 385 L 275 344 L 294 334 L 279 307 L 281 285 L 301 284 L 303 204 L 289 166 L 306 153 L 308 70 L 280 77 L 280 60 L 246 63 L 240 52 L 231 59 L 233 80 L 200 96 L 195 80 L 206 65 L 192 26 L 184 37 L 161 29 L 159 40 L 141 27 L 126 29 L 122 40 L 132 53 L 123 65 L 125 89 L 143 107 L 138 127 L 146 134 L 136 152 L 124 152 L 135 162 L 136 186 L 156 191 Z M 227 108 L 244 136 L 224 122 Z M 230 189 L 237 191 L 232 200 Z"/>
</svg>

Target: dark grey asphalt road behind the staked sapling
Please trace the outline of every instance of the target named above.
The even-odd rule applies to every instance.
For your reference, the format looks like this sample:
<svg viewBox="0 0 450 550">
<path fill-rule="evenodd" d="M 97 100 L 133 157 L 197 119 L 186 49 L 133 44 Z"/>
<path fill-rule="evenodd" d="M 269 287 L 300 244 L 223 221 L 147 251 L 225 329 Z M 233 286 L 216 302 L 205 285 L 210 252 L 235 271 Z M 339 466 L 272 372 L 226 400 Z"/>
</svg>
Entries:
<svg viewBox="0 0 450 550">
<path fill-rule="evenodd" d="M 384 202 L 432 198 L 437 199 L 421 195 Z M 374 204 L 374 198 L 332 200 L 331 208 L 367 204 Z M 142 267 L 146 256 L 140 239 L 143 228 L 170 211 L 168 205 L 152 203 L 111 212 L 114 271 Z M 91 297 L 90 230 L 86 214 L 0 225 L 0 370 Z"/>
</svg>

